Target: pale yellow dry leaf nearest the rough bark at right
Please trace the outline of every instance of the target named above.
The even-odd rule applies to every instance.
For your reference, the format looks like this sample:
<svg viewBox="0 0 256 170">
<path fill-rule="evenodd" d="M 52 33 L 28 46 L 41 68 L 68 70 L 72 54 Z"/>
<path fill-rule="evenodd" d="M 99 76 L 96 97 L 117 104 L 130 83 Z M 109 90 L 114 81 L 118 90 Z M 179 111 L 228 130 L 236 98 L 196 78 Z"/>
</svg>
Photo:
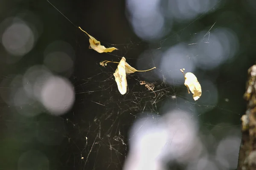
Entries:
<svg viewBox="0 0 256 170">
<path fill-rule="evenodd" d="M 183 75 L 185 77 L 184 85 L 186 85 L 186 87 L 188 88 L 188 92 L 189 92 L 189 90 L 192 92 L 193 99 L 197 100 L 200 98 L 200 96 L 202 94 L 201 85 L 198 82 L 197 78 L 195 77 L 195 74 L 190 73 L 190 72 L 184 74 L 184 70 L 185 70 L 185 68 L 180 69 L 180 71 L 183 73 Z"/>
</svg>

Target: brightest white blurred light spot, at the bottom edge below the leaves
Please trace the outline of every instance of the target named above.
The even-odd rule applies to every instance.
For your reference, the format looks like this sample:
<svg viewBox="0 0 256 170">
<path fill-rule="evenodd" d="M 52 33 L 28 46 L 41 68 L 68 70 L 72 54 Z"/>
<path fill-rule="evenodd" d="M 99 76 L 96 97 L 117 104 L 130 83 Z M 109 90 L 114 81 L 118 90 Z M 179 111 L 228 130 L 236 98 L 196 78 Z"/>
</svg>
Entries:
<svg viewBox="0 0 256 170">
<path fill-rule="evenodd" d="M 130 132 L 130 153 L 123 170 L 160 170 L 160 153 L 165 146 L 168 134 L 163 123 L 147 117 L 135 122 Z"/>
</svg>

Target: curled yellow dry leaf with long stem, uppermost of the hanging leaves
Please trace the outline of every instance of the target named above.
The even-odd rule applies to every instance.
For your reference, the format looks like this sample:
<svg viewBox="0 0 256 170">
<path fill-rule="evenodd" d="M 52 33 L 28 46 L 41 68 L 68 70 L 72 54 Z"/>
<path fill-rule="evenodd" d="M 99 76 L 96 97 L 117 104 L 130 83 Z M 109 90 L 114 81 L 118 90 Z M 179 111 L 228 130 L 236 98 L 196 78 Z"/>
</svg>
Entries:
<svg viewBox="0 0 256 170">
<path fill-rule="evenodd" d="M 78 27 L 82 30 L 81 27 Z M 85 32 L 84 30 L 82 30 L 83 32 Z M 89 37 L 89 42 L 90 42 L 90 46 L 89 48 L 92 48 L 93 50 L 99 52 L 99 53 L 107 53 L 107 52 L 112 52 L 114 50 L 117 50 L 117 48 L 111 47 L 111 48 L 106 48 L 103 45 L 100 45 L 100 42 L 98 40 L 96 40 L 94 37 L 90 36 L 87 32 L 85 32 Z"/>
</svg>

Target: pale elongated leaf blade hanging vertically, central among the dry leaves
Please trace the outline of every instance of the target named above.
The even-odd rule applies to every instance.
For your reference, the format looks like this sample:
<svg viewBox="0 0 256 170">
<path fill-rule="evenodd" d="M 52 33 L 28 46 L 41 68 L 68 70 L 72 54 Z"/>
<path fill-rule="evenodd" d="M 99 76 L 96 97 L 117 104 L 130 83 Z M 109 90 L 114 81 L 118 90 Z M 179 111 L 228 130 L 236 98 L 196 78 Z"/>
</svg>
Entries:
<svg viewBox="0 0 256 170">
<path fill-rule="evenodd" d="M 124 95 L 127 91 L 127 81 L 126 81 L 126 74 L 125 74 L 125 57 L 122 57 L 113 75 L 115 77 L 117 88 L 120 94 Z"/>
</svg>

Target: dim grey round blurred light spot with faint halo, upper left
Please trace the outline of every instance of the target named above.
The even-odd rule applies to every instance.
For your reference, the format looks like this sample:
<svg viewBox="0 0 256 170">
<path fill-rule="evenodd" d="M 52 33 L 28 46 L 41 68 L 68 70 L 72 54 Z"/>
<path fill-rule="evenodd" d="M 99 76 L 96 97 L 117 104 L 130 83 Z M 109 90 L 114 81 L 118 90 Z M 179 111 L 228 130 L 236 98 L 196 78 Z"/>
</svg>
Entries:
<svg viewBox="0 0 256 170">
<path fill-rule="evenodd" d="M 14 64 L 36 45 L 43 32 L 43 23 L 32 11 L 21 11 L 0 22 L 1 61 Z M 35 56 L 36 57 L 36 56 Z"/>
</svg>

